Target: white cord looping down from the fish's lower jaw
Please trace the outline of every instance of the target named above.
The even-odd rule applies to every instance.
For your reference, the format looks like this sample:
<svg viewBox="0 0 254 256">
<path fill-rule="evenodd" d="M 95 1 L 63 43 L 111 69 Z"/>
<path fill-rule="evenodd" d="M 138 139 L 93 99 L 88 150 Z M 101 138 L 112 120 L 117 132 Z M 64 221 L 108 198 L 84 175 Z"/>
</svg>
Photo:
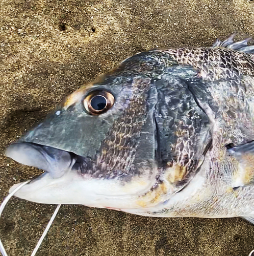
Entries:
<svg viewBox="0 0 254 256">
<path fill-rule="evenodd" d="M 30 181 L 31 181 L 31 180 L 28 180 L 28 181 L 26 181 L 26 182 L 21 183 L 19 186 L 17 186 L 17 187 L 4 199 L 4 201 L 3 201 L 2 204 L 0 205 L 0 219 L 1 219 L 1 215 L 2 215 L 3 210 L 4 210 L 5 206 L 6 206 L 6 204 L 8 203 L 8 201 L 11 199 L 11 197 L 12 197 L 22 186 L 28 184 Z M 43 233 L 42 233 L 42 236 L 40 237 L 40 239 L 39 239 L 37 245 L 35 246 L 35 248 L 34 248 L 32 254 L 31 254 L 31 256 L 35 256 L 36 252 L 38 251 L 38 249 L 39 249 L 39 247 L 40 247 L 40 245 L 41 245 L 43 239 L 45 238 L 45 236 L 46 236 L 46 234 L 47 234 L 47 232 L 48 232 L 50 226 L 52 225 L 54 219 L 55 219 L 56 216 L 57 216 L 57 213 L 58 213 L 58 210 L 60 209 L 60 206 L 61 206 L 61 204 L 59 204 L 59 205 L 57 206 L 57 208 L 55 209 L 54 214 L 53 214 L 52 217 L 50 218 L 50 220 L 49 220 L 49 222 L 48 222 L 48 224 L 47 224 L 45 230 L 44 230 Z M 1 238 L 0 238 L 0 252 L 3 254 L 3 256 L 8 256 L 8 254 L 7 254 L 7 252 L 6 252 L 5 248 L 4 248 L 4 245 L 3 245 L 2 241 L 1 241 Z"/>
</svg>

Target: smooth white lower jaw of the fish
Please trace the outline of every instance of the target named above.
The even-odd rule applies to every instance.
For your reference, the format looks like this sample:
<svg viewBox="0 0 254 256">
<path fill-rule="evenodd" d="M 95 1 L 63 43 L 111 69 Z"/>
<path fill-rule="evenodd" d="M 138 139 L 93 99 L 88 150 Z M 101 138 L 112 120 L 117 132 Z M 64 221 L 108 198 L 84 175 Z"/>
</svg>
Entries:
<svg viewBox="0 0 254 256">
<path fill-rule="evenodd" d="M 69 170 L 60 178 L 44 173 L 31 180 L 15 194 L 16 197 L 45 204 L 82 204 L 97 208 L 140 208 L 138 198 L 150 189 L 148 178 L 134 178 L 122 184 L 115 179 L 93 179 Z M 19 183 L 20 184 L 20 183 Z M 9 192 L 19 184 L 13 185 Z"/>
</svg>

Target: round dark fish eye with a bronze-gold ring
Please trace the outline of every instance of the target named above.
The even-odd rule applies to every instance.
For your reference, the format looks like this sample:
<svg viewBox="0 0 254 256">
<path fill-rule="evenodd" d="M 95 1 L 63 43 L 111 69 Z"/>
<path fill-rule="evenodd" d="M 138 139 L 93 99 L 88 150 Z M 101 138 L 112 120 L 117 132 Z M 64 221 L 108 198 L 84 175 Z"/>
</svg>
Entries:
<svg viewBox="0 0 254 256">
<path fill-rule="evenodd" d="M 105 113 L 114 104 L 114 96 L 104 90 L 93 91 L 89 93 L 83 100 L 85 110 L 91 115 L 99 115 Z"/>
</svg>

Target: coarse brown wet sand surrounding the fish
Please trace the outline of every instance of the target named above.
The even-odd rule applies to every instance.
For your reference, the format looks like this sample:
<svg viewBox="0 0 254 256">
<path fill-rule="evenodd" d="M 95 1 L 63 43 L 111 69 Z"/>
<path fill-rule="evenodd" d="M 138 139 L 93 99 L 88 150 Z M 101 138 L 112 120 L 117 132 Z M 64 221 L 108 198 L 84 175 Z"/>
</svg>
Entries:
<svg viewBox="0 0 254 256">
<path fill-rule="evenodd" d="M 254 35 L 249 0 L 0 1 L 0 200 L 39 173 L 4 156 L 6 145 L 61 99 L 124 58 L 156 47 L 210 46 Z M 0 224 L 9 255 L 30 255 L 55 206 L 12 199 Z M 38 255 L 247 256 L 242 219 L 144 218 L 62 206 Z"/>
</svg>

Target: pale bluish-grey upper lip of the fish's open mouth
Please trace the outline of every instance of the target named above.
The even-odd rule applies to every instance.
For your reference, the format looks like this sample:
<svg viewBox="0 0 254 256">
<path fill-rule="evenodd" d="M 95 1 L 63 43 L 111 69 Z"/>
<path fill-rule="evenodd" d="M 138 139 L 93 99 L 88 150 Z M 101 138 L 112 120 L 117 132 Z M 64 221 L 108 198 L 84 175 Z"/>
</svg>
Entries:
<svg viewBox="0 0 254 256">
<path fill-rule="evenodd" d="M 74 153 L 30 142 L 11 144 L 6 156 L 18 163 L 43 169 L 53 179 L 62 177 L 78 159 Z"/>
</svg>

